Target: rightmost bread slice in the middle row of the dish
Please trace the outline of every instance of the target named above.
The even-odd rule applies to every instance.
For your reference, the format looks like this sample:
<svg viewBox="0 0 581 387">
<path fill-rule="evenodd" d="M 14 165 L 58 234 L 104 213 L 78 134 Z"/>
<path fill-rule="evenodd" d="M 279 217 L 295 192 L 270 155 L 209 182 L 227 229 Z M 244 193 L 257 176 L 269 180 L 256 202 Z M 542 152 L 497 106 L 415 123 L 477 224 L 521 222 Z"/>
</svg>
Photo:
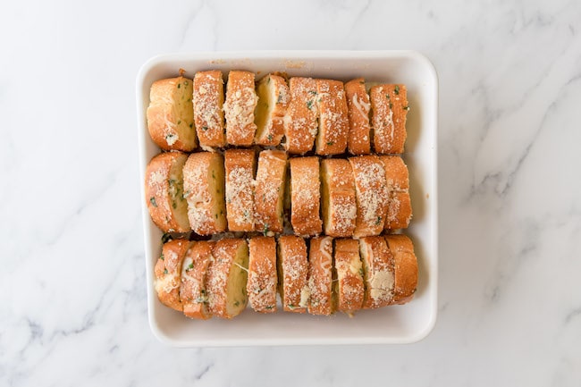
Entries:
<svg viewBox="0 0 581 387">
<path fill-rule="evenodd" d="M 385 167 L 385 179 L 389 189 L 385 230 L 405 229 L 412 215 L 409 198 L 408 167 L 400 156 L 380 156 Z"/>
</svg>

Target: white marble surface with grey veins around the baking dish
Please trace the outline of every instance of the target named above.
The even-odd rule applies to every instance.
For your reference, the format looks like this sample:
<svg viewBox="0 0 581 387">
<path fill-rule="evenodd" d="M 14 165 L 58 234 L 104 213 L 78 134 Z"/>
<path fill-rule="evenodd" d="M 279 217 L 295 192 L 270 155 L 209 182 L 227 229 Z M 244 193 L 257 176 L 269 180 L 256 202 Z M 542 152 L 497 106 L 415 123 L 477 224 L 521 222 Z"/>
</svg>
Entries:
<svg viewBox="0 0 581 387">
<path fill-rule="evenodd" d="M 578 1 L 10 1 L 0 47 L 0 385 L 580 385 Z M 424 53 L 440 77 L 434 332 L 406 346 L 156 341 L 141 63 L 396 48 Z"/>
</svg>

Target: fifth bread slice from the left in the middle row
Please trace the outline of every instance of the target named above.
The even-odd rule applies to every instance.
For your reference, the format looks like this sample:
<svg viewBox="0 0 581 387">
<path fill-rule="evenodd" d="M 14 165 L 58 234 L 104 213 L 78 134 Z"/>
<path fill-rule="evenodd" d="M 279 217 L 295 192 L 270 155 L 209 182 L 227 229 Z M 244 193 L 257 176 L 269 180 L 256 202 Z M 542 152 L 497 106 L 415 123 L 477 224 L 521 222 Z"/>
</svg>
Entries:
<svg viewBox="0 0 581 387">
<path fill-rule="evenodd" d="M 297 235 L 317 235 L 323 231 L 321 221 L 321 183 L 319 158 L 290 158 L 290 223 Z"/>
</svg>

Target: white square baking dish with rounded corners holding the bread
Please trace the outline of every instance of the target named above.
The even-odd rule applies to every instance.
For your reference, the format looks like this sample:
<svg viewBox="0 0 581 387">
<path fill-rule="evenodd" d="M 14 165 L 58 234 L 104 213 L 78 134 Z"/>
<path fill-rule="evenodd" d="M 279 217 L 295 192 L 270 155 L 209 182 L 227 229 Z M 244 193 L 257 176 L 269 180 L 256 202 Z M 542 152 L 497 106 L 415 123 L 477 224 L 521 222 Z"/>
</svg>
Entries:
<svg viewBox="0 0 581 387">
<path fill-rule="evenodd" d="M 353 318 L 296 315 L 282 311 L 262 315 L 251 310 L 231 321 L 194 321 L 164 307 L 153 287 L 153 271 L 161 251 L 162 232 L 151 222 L 142 184 L 145 233 L 147 306 L 156 337 L 174 347 L 218 347 L 305 344 L 387 344 L 420 341 L 432 331 L 438 294 L 437 107 L 438 82 L 434 66 L 413 51 L 259 51 L 161 55 L 145 63 L 137 78 L 140 181 L 147 162 L 159 148 L 147 133 L 149 88 L 155 80 L 175 77 L 180 69 L 195 72 L 232 69 L 257 73 L 287 72 L 350 80 L 405 83 L 408 87 L 408 164 L 414 217 L 406 231 L 414 241 L 419 277 L 415 299 L 403 306 L 363 310 Z"/>
</svg>

